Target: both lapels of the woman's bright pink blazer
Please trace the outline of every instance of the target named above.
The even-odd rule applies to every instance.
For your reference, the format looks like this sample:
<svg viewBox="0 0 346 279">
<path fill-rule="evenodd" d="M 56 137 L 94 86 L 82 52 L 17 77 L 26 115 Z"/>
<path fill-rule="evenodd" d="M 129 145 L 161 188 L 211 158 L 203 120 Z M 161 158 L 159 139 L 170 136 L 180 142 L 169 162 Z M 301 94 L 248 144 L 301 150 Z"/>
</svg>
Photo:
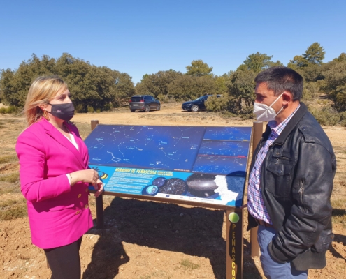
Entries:
<svg viewBox="0 0 346 279">
<path fill-rule="evenodd" d="M 45 133 L 50 135 L 50 137 L 52 137 L 52 139 L 55 140 L 58 144 L 62 144 L 62 146 L 64 146 L 69 151 L 71 151 L 73 153 L 73 155 L 75 156 L 75 158 L 77 158 L 82 169 L 85 169 L 85 167 L 87 167 L 87 165 L 85 164 L 85 162 L 83 162 L 82 156 L 80 155 L 81 154 L 80 151 L 83 151 L 82 147 L 84 147 L 84 146 L 82 146 L 83 144 L 80 144 L 79 137 L 77 137 L 75 135 L 75 133 L 73 133 L 73 136 L 75 137 L 75 141 L 77 142 L 78 147 L 80 149 L 78 151 L 75 148 L 75 146 L 72 144 L 72 142 L 70 142 L 64 135 L 62 135 L 62 133 L 60 133 L 57 130 L 57 128 L 52 126 L 52 124 L 49 123 L 46 119 L 43 119 L 43 121 L 41 121 L 41 123 L 43 125 L 43 128 L 45 128 Z"/>
</svg>

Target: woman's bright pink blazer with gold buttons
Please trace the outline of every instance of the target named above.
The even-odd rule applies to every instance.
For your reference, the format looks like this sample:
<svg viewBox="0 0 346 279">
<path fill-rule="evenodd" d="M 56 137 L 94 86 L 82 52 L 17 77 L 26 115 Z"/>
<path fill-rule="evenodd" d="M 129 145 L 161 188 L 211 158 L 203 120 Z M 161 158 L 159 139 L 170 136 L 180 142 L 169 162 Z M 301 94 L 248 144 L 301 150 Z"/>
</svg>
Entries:
<svg viewBox="0 0 346 279">
<path fill-rule="evenodd" d="M 79 150 L 45 119 L 24 130 L 15 146 L 31 240 L 43 249 L 70 244 L 92 227 L 88 183 L 71 187 L 66 176 L 88 168 L 87 146 L 75 126 L 68 128 Z"/>
</svg>

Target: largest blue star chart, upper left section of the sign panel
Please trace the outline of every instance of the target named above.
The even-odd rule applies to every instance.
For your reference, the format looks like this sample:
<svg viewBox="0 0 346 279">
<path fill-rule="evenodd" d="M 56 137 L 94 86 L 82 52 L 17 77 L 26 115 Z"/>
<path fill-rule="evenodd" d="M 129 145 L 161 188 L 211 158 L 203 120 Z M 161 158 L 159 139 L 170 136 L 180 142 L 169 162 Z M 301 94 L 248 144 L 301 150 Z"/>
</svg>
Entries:
<svg viewBox="0 0 346 279">
<path fill-rule="evenodd" d="M 85 140 L 89 163 L 191 171 L 206 128 L 99 125 Z"/>
</svg>

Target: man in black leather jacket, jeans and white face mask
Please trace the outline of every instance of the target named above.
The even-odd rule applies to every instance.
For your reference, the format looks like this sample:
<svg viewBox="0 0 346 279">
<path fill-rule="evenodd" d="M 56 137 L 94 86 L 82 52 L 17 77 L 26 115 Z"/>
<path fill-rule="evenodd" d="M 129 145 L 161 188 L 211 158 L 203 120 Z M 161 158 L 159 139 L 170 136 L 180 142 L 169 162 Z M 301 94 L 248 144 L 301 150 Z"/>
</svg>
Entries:
<svg viewBox="0 0 346 279">
<path fill-rule="evenodd" d="M 303 77 L 283 66 L 255 78 L 254 114 L 268 121 L 252 158 L 247 229 L 258 229 L 267 278 L 307 278 L 326 266 L 336 157 L 329 138 L 300 103 Z"/>
</svg>

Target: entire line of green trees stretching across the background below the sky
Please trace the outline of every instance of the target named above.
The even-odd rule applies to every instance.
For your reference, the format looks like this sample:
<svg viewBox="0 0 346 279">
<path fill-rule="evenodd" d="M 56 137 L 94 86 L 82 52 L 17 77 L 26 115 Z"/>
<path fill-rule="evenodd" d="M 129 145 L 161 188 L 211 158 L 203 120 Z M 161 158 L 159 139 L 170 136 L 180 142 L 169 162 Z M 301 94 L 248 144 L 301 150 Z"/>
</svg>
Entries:
<svg viewBox="0 0 346 279">
<path fill-rule="evenodd" d="M 309 103 L 324 93 L 326 102 L 313 113 L 319 119 L 322 112 L 333 115 L 334 122 L 346 126 L 346 54 L 324 63 L 325 51 L 319 43 L 313 43 L 301 55 L 289 61 L 288 67 L 303 75 L 305 86 L 303 100 Z M 186 66 L 186 73 L 161 70 L 146 74 L 134 86 L 127 73 L 107 67 L 96 67 L 89 62 L 62 54 L 59 59 L 49 56 L 31 56 L 17 70 L 1 70 L 0 98 L 7 105 L 22 107 L 31 82 L 39 75 L 59 75 L 68 84 L 73 103 L 78 112 L 110 110 L 126 103 L 134 94 L 147 94 L 164 103 L 192 100 L 206 94 L 221 94 L 221 98 L 209 98 L 207 109 L 229 116 L 252 117 L 254 102 L 254 77 L 271 66 L 282 65 L 272 61 L 273 56 L 259 52 L 250 54 L 235 71 L 224 75 L 212 74 L 212 67 L 202 60 L 194 60 Z M 319 119 L 324 123 L 323 119 Z M 329 123 L 325 123 L 326 125 Z"/>
</svg>

